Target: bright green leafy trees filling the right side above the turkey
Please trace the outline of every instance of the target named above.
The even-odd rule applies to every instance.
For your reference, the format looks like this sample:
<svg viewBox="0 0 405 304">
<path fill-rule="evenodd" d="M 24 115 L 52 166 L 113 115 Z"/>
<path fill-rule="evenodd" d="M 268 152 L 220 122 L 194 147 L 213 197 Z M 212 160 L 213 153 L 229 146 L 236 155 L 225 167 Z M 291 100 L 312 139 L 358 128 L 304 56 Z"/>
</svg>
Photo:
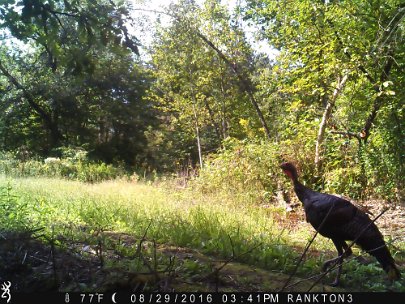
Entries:
<svg viewBox="0 0 405 304">
<path fill-rule="evenodd" d="M 385 140 L 393 138 L 386 132 L 395 129 L 394 137 L 399 139 L 398 131 L 403 130 L 398 120 L 403 112 L 402 97 L 390 89 L 391 85 L 403 86 L 403 16 L 403 5 L 397 1 L 384 5 L 375 1 L 287 1 L 283 5 L 248 1 L 245 7 L 245 19 L 259 24 L 261 37 L 279 50 L 271 73 L 263 71 L 259 78 L 277 83 L 267 95 L 267 107 L 274 109 L 275 103 L 281 102 L 278 113 L 298 128 L 306 129 L 308 123 L 318 125 L 318 136 L 304 133 L 312 144 L 316 139 L 322 150 L 322 170 L 313 170 L 319 175 L 315 179 L 318 187 L 326 185 L 354 197 L 377 193 L 387 197 L 403 191 L 403 178 L 398 178 L 403 176 L 401 144 L 388 144 L 390 156 L 385 154 Z M 393 64 L 391 60 L 398 61 Z M 338 90 L 339 80 L 345 76 L 347 82 Z M 286 116 L 285 109 L 294 111 Z M 388 123 L 386 115 L 396 119 Z M 283 125 L 277 117 L 274 121 L 277 127 Z M 288 133 L 291 128 L 278 130 L 282 136 L 292 135 Z M 387 166 L 386 159 L 396 159 L 396 165 Z M 377 171 L 384 172 L 380 177 L 385 183 L 380 186 L 375 184 Z M 349 174 L 352 185 L 344 182 L 343 172 Z M 335 179 L 333 186 L 325 181 L 331 177 Z"/>
</svg>

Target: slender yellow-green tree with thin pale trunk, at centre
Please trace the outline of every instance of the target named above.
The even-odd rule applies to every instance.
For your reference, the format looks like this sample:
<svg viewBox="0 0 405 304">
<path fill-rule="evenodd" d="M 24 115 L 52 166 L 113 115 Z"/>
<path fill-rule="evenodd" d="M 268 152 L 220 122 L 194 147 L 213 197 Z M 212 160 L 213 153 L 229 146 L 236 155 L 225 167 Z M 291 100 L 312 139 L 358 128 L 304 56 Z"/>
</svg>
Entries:
<svg viewBox="0 0 405 304">
<path fill-rule="evenodd" d="M 251 49 L 217 1 L 203 8 L 182 3 L 171 10 L 169 15 L 181 17 L 155 38 L 153 98 L 164 120 L 188 133 L 183 139 L 194 137 L 202 165 L 202 150 L 219 148 L 221 140 L 241 131 L 241 118 L 255 116 L 248 104 L 252 88 L 242 87 L 248 79 L 242 74 L 251 69 Z M 186 154 L 192 155 L 192 149 L 187 147 Z"/>
</svg>

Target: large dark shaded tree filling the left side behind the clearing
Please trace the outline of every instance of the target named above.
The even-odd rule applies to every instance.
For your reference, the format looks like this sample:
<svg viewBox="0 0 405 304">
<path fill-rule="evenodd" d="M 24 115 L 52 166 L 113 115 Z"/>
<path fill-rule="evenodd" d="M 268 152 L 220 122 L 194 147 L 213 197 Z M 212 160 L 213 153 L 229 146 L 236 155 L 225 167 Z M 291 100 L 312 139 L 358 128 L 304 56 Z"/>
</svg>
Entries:
<svg viewBox="0 0 405 304">
<path fill-rule="evenodd" d="M 2 10 L 5 41 L 25 43 L 5 43 L 0 57 L 8 89 L 1 96 L 4 149 L 49 155 L 80 146 L 128 165 L 148 158 L 144 132 L 155 113 L 143 97 L 150 76 L 133 56 L 129 11 L 117 3 L 24 1 Z"/>
</svg>

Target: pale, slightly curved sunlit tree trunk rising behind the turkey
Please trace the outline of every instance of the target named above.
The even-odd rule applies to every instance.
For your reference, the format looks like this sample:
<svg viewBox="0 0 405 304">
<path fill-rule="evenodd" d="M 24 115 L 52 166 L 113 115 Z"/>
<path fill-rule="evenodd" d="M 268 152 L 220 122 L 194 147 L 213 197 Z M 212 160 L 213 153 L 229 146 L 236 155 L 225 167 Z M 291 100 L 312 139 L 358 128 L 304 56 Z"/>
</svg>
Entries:
<svg viewBox="0 0 405 304">
<path fill-rule="evenodd" d="M 344 88 L 346 81 L 348 78 L 348 74 L 345 74 L 342 79 L 338 79 L 338 84 L 333 91 L 331 98 L 329 99 L 328 103 L 326 104 L 325 111 L 323 112 L 321 123 L 319 124 L 318 130 L 318 137 L 316 139 L 316 147 L 315 147 L 315 169 L 316 172 L 319 174 L 321 170 L 321 148 L 323 141 L 325 139 L 325 130 L 328 120 L 332 114 L 332 108 L 335 105 L 336 99 L 338 98 L 340 92 Z"/>
</svg>

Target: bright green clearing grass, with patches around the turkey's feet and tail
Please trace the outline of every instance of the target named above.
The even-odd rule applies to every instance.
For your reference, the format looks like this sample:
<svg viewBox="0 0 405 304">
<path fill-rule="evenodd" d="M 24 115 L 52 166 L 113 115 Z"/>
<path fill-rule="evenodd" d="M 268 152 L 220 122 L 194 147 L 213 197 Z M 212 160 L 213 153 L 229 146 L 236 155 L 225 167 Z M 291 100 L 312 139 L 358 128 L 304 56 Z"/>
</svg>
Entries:
<svg viewBox="0 0 405 304">
<path fill-rule="evenodd" d="M 7 185 L 16 205 L 24 211 L 19 221 L 44 227 L 49 236 L 91 239 L 102 231 L 137 237 L 146 233 L 149 240 L 159 244 L 194 248 L 220 258 L 234 255 L 239 262 L 290 273 L 313 235 L 309 226 L 291 232 L 276 221 L 275 215 L 283 217 L 280 209 L 263 208 L 248 198 L 221 192 L 202 194 L 193 189 L 176 190 L 172 184 L 128 181 L 86 184 L 47 178 L 0 178 L 0 186 L 5 189 Z M 4 194 L 3 201 L 7 195 L 11 194 Z M 404 243 L 396 246 L 405 248 Z M 302 277 L 319 273 L 326 256 L 317 254 L 318 250 L 335 254 L 332 243 L 322 237 L 315 240 L 311 250 L 299 269 Z M 355 290 L 387 288 L 385 274 L 374 264 L 360 266 L 352 261 L 345 269 L 350 269 L 346 284 L 355 286 Z M 372 277 L 373 283 L 364 276 Z M 404 280 L 390 288 L 404 291 Z"/>
</svg>

